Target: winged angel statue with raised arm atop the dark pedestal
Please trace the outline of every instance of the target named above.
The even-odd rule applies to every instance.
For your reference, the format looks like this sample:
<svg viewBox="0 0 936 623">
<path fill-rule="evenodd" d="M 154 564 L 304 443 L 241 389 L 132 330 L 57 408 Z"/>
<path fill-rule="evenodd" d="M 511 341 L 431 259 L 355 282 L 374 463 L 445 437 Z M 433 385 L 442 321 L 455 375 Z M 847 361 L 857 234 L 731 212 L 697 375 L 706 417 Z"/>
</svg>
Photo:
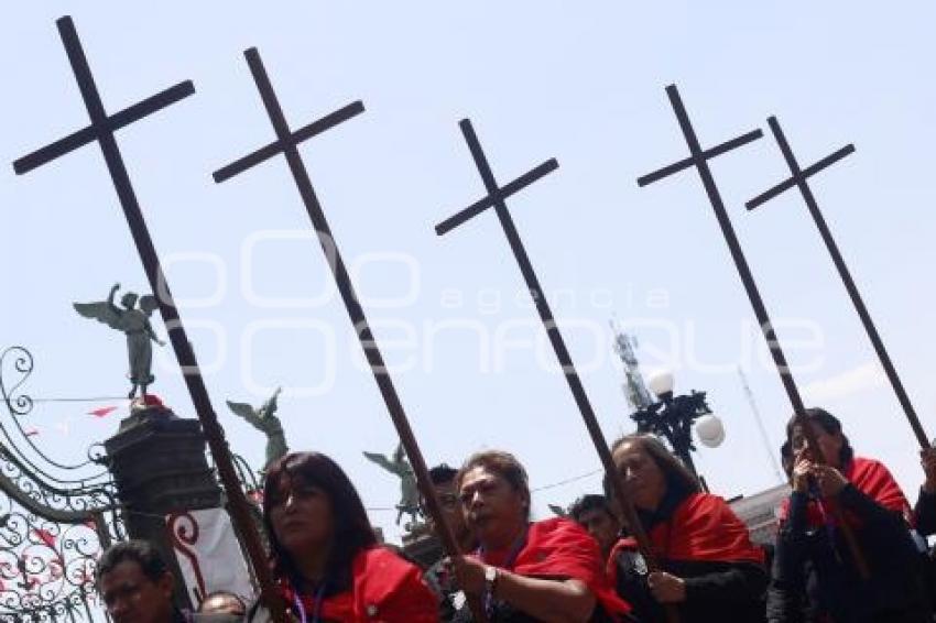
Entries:
<svg viewBox="0 0 936 623">
<path fill-rule="evenodd" d="M 137 296 L 133 292 L 127 292 L 120 297 L 121 309 L 113 304 L 113 296 L 120 289 L 120 284 L 113 284 L 110 288 L 110 294 L 107 300 L 100 303 L 74 303 L 75 312 L 85 318 L 92 318 L 98 323 L 104 323 L 111 329 L 123 331 L 127 334 L 127 351 L 130 358 L 130 393 L 128 398 L 137 395 L 137 389 L 140 389 L 140 395 L 146 395 L 146 387 L 150 386 L 155 376 L 153 376 L 153 346 L 151 341 L 160 346 L 165 346 L 165 342 L 156 337 L 153 331 L 153 326 L 150 324 L 150 316 L 159 306 L 156 297 L 153 295 Z M 137 305 L 139 302 L 139 306 Z"/>
</svg>

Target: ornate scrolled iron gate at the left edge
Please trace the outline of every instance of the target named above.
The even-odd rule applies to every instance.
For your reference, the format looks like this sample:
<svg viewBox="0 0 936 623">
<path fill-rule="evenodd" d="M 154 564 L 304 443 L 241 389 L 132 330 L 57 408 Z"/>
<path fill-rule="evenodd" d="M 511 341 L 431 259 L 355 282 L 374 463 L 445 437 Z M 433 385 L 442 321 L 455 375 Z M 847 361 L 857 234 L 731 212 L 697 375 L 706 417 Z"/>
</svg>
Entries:
<svg viewBox="0 0 936 623">
<path fill-rule="evenodd" d="M 0 621 L 99 619 L 94 569 L 124 538 L 104 447 L 62 463 L 42 452 L 23 420 L 35 402 L 21 390 L 33 371 L 23 347 L 0 353 Z"/>
</svg>

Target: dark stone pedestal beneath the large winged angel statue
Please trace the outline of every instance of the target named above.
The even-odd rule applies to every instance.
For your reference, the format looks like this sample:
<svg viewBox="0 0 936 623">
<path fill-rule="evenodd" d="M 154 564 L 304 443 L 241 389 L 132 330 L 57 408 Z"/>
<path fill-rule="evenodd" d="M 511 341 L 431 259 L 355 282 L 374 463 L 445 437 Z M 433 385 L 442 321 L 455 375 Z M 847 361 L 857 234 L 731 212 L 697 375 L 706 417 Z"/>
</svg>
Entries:
<svg viewBox="0 0 936 623">
<path fill-rule="evenodd" d="M 221 505 L 200 423 L 179 418 L 162 406 L 149 406 L 123 419 L 105 448 L 124 507 L 128 536 L 149 540 L 159 549 L 176 579 L 176 603 L 192 608 L 193 595 L 186 593 L 178 570 L 166 515 Z"/>
</svg>

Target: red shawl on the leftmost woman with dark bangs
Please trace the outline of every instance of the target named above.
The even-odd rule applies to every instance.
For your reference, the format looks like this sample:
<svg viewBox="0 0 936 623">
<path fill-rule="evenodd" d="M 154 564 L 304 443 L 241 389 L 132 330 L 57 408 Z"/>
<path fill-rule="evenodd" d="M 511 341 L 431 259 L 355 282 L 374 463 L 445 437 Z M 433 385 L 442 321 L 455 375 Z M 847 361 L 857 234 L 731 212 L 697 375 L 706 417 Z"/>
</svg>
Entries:
<svg viewBox="0 0 936 623">
<path fill-rule="evenodd" d="M 437 623 L 437 599 L 423 582 L 423 572 L 390 549 L 364 549 L 355 557 L 351 573 L 350 590 L 323 601 L 323 623 Z M 294 595 L 291 589 L 284 589 L 289 604 Z M 303 595 L 302 600 L 312 622 L 315 598 Z"/>
</svg>

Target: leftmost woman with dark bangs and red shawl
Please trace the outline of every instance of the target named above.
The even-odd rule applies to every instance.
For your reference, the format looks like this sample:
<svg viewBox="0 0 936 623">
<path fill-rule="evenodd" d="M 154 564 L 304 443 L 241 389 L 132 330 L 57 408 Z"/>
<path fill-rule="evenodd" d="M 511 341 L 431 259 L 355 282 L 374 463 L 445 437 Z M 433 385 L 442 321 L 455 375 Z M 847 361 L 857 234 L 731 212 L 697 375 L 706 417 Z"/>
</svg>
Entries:
<svg viewBox="0 0 936 623">
<path fill-rule="evenodd" d="M 277 588 L 297 621 L 438 621 L 420 568 L 378 546 L 353 484 L 325 455 L 294 452 L 270 467 L 263 524 Z M 268 620 L 258 605 L 247 619 Z"/>
</svg>

